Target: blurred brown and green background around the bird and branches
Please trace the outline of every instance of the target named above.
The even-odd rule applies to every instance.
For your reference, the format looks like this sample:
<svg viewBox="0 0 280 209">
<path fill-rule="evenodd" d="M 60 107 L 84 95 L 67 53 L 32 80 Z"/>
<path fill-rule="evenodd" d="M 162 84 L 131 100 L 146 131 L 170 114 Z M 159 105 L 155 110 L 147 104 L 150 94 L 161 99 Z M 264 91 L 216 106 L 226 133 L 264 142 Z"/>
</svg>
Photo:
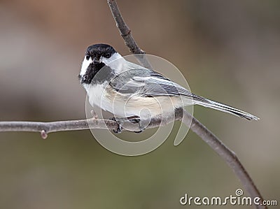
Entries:
<svg viewBox="0 0 280 209">
<path fill-rule="evenodd" d="M 175 64 L 193 92 L 260 117 L 248 122 L 195 107 L 264 198 L 280 204 L 280 1 L 118 5 L 141 48 Z M 2 0 L 0 30 L 0 120 L 84 118 L 77 75 L 87 46 L 109 43 L 129 55 L 105 0 Z M 170 136 L 141 157 L 105 150 L 90 131 L 0 138 L 0 208 L 182 208 L 185 193 L 223 197 L 243 189 L 191 131 L 178 147 Z"/>
</svg>

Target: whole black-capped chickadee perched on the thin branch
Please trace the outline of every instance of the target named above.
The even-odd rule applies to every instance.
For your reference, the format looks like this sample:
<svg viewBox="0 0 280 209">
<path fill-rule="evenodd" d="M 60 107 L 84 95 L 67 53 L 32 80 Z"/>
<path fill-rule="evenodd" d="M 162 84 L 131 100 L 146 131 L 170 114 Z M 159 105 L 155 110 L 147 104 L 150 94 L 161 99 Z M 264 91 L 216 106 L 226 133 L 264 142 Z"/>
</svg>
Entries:
<svg viewBox="0 0 280 209">
<path fill-rule="evenodd" d="M 189 92 L 164 75 L 127 62 L 111 45 L 90 45 L 78 75 L 90 104 L 118 117 L 149 120 L 198 104 L 247 120 L 258 117 Z M 145 110 L 145 111 L 144 111 Z"/>
</svg>

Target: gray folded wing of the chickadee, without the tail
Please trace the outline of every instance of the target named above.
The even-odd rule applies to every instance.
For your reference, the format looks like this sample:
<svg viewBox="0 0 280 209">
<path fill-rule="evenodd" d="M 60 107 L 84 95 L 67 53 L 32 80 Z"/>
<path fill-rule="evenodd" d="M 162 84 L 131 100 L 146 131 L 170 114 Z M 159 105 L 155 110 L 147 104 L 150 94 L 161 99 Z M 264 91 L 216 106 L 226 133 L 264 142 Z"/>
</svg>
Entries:
<svg viewBox="0 0 280 209">
<path fill-rule="evenodd" d="M 188 96 L 195 97 L 181 85 L 164 75 L 149 69 L 132 69 L 117 75 L 110 85 L 122 94 L 141 96 Z"/>
</svg>

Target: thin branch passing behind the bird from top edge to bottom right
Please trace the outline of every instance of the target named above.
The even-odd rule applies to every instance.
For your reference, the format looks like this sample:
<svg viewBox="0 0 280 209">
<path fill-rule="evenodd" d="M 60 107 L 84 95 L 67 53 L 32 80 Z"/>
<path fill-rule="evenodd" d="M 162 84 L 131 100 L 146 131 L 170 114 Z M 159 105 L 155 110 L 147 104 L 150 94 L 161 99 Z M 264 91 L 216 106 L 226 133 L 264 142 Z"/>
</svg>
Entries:
<svg viewBox="0 0 280 209">
<path fill-rule="evenodd" d="M 122 15 L 120 15 L 120 10 L 118 8 L 116 0 L 108 0 L 109 7 L 111 9 L 111 12 L 113 14 L 114 20 L 116 21 L 116 25 L 120 31 L 121 36 L 125 40 L 125 45 L 127 45 L 128 48 L 130 48 L 131 52 L 134 52 L 134 49 L 137 48 L 137 53 L 142 52 L 143 50 L 139 48 L 134 38 L 131 36 L 131 31 L 127 27 L 127 24 L 125 24 L 125 21 L 123 20 Z M 124 36 L 125 35 L 125 36 Z M 144 63 L 148 63 L 148 60 L 146 57 L 143 57 Z M 195 119 L 195 117 L 192 117 L 189 115 L 189 113 L 184 110 L 183 113 L 183 123 L 190 124 L 190 120 L 193 120 L 190 129 L 195 132 L 202 140 L 204 140 L 215 152 L 220 155 L 222 159 L 224 159 L 228 166 L 232 168 L 232 170 L 235 172 L 241 183 L 244 185 L 246 191 L 248 194 L 252 197 L 259 197 L 261 199 L 261 203 L 263 201 L 262 196 L 260 195 L 260 192 L 258 191 L 257 187 L 255 187 L 255 184 L 253 180 L 251 179 L 250 175 L 248 175 L 248 172 L 242 166 L 241 162 L 237 158 L 235 152 L 232 152 L 228 147 L 226 147 L 221 140 L 219 140 L 207 127 L 205 127 L 200 121 Z M 266 206 L 255 206 L 256 208 L 267 208 Z"/>
</svg>

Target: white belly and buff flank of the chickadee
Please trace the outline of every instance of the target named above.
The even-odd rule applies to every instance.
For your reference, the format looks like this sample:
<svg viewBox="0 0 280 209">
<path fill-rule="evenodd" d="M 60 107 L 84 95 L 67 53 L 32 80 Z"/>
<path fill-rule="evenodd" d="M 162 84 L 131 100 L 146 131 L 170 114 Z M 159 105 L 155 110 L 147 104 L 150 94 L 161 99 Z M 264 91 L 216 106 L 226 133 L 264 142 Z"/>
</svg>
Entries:
<svg viewBox="0 0 280 209">
<path fill-rule="evenodd" d="M 139 116 L 148 120 L 158 115 L 174 114 L 174 108 L 182 107 L 180 97 L 157 96 L 143 97 L 137 94 L 126 96 L 113 91 L 110 86 L 85 86 L 90 104 L 99 106 L 103 110 L 113 113 L 116 117 Z"/>
</svg>

